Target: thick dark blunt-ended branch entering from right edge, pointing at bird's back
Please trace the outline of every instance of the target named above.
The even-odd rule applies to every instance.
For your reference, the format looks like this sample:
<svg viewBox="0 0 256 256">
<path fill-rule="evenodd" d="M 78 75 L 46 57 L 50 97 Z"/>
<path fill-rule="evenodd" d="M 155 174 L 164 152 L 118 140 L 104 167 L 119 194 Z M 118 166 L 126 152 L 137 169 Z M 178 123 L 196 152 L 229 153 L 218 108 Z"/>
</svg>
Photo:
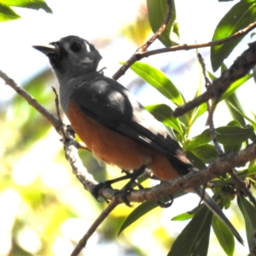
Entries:
<svg viewBox="0 0 256 256">
<path fill-rule="evenodd" d="M 196 97 L 193 101 L 187 102 L 183 106 L 176 108 L 173 115 L 177 117 L 183 113 L 187 113 L 189 110 L 201 105 L 201 103 L 207 102 L 210 98 L 213 98 L 214 102 L 218 102 L 219 97 L 229 88 L 230 84 L 237 79 L 241 79 L 255 66 L 255 64 L 256 42 L 253 42 L 252 44 L 249 44 L 249 48 L 234 61 L 229 69 L 225 70 L 218 79 L 215 79 L 212 82 L 206 92 L 201 94 L 201 96 Z"/>
</svg>

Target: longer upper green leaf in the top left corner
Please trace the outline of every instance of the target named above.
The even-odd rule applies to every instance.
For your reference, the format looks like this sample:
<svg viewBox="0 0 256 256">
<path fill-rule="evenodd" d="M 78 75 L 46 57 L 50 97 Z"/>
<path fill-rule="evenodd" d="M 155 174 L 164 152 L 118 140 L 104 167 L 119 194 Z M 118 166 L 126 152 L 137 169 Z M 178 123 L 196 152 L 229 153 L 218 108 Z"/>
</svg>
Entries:
<svg viewBox="0 0 256 256">
<path fill-rule="evenodd" d="M 44 0 L 0 0 L 0 4 L 6 6 L 22 7 L 27 9 L 44 9 L 47 13 L 52 13 L 47 3 Z"/>
</svg>

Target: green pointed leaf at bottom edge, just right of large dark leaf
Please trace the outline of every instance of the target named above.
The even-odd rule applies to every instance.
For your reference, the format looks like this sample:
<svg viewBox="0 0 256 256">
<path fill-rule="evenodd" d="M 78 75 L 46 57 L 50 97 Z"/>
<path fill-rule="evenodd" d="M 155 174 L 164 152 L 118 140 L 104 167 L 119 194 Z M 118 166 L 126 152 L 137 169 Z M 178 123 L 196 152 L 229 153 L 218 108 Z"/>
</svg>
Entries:
<svg viewBox="0 0 256 256">
<path fill-rule="evenodd" d="M 214 215 L 212 217 L 212 228 L 224 252 L 232 256 L 235 250 L 235 239 L 230 230 Z"/>
</svg>

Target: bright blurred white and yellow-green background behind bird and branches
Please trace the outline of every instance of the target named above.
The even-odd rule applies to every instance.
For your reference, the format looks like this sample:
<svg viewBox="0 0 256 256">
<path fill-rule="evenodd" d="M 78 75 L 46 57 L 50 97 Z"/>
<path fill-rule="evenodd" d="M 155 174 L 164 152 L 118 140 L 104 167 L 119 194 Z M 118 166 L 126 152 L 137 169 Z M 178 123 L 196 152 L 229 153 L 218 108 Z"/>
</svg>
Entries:
<svg viewBox="0 0 256 256">
<path fill-rule="evenodd" d="M 32 49 L 32 45 L 47 45 L 68 35 L 85 38 L 99 49 L 103 56 L 99 68 L 107 67 L 104 73 L 111 77 L 120 67 L 119 62 L 126 61 L 147 40 L 151 30 L 144 0 L 46 2 L 53 14 L 14 8 L 22 18 L 0 23 L 0 69 L 55 113 L 55 95 L 51 89 L 51 86 L 57 88 L 55 77 L 48 59 Z M 211 41 L 218 20 L 235 3 L 177 1 L 180 44 Z M 249 36 L 242 40 L 225 61 L 228 67 L 247 49 L 250 41 Z M 160 42 L 155 42 L 150 49 L 162 47 Z M 199 51 L 211 70 L 210 49 Z M 187 100 L 193 98 L 203 83 L 196 50 L 154 55 L 143 62 L 164 71 Z M 143 105 L 169 103 L 131 71 L 119 82 L 135 93 Z M 241 99 L 244 96 L 243 107 L 255 112 L 255 106 L 249 105 L 255 96 L 254 87 L 255 84 L 247 83 L 238 94 Z M 0 255 L 69 255 L 106 204 L 96 201 L 73 176 L 60 137 L 49 123 L 2 80 L 0 88 Z M 230 121 L 229 112 L 222 104 L 215 116 L 217 127 Z M 198 120 L 189 136 L 204 131 L 205 122 L 205 116 Z M 80 156 L 98 181 L 120 174 L 117 168 L 98 163 L 87 152 L 81 151 Z M 185 195 L 169 209 L 156 208 L 149 212 L 120 236 L 120 225 L 136 205 L 119 206 L 90 238 L 85 251 L 87 255 L 106 252 L 125 256 L 166 255 L 187 224 L 171 222 L 171 218 L 192 210 L 198 202 L 196 196 Z M 239 215 L 227 214 L 239 229 L 242 224 Z M 209 255 L 222 252 L 213 235 L 209 252 Z M 237 245 L 236 255 L 245 255 L 245 247 Z"/>
</svg>

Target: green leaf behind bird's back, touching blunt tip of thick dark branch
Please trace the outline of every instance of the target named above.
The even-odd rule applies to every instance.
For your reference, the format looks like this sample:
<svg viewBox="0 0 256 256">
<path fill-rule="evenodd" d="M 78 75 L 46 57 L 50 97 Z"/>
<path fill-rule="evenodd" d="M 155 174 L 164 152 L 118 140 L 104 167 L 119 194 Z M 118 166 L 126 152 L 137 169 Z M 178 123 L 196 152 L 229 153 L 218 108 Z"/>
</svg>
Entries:
<svg viewBox="0 0 256 256">
<path fill-rule="evenodd" d="M 174 130 L 183 134 L 183 129 L 181 127 L 179 119 L 173 117 L 173 110 L 166 104 L 156 104 L 145 107 L 148 112 L 154 115 L 155 119 L 158 119 L 160 122 L 165 125 L 172 127 Z"/>
</svg>

